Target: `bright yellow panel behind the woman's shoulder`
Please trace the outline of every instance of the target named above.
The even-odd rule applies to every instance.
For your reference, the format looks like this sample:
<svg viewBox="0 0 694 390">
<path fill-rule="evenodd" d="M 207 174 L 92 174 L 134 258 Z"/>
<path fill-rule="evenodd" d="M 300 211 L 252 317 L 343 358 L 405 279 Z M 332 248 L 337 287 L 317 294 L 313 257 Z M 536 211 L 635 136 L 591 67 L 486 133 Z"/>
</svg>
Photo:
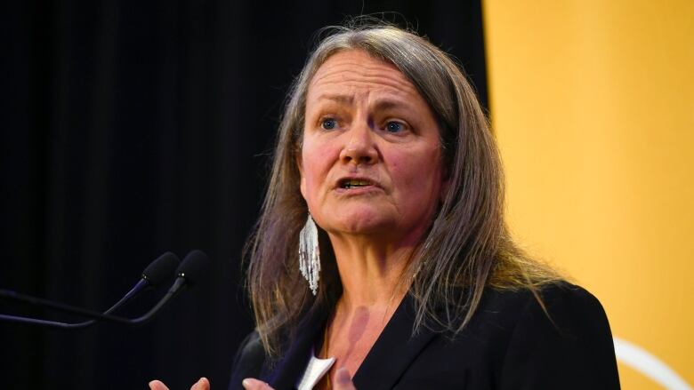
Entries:
<svg viewBox="0 0 694 390">
<path fill-rule="evenodd" d="M 483 8 L 512 230 L 691 386 L 694 2 Z M 620 363 L 624 388 L 645 376 Z"/>
</svg>

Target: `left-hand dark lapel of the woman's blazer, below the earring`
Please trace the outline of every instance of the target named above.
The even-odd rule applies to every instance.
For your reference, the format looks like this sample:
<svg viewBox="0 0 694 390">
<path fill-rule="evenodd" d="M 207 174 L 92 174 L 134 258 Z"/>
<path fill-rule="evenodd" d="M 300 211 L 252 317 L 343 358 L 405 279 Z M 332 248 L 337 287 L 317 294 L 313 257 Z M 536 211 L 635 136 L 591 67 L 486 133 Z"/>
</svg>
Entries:
<svg viewBox="0 0 694 390">
<path fill-rule="evenodd" d="M 311 357 L 311 347 L 314 346 L 319 332 L 325 328 L 326 321 L 325 309 L 317 309 L 306 314 L 296 329 L 294 342 L 290 344 L 286 354 L 276 362 L 277 365 L 270 369 L 270 375 L 264 378 L 272 388 L 284 390 L 296 387 Z"/>
</svg>

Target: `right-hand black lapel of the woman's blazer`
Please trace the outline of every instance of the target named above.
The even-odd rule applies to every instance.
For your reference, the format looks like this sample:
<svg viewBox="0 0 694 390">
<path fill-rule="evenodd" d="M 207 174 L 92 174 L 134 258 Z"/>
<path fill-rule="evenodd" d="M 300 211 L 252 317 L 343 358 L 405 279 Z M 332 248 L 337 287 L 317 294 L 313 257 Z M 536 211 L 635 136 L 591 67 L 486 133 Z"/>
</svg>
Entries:
<svg viewBox="0 0 694 390">
<path fill-rule="evenodd" d="M 367 390 L 395 386 L 409 364 L 436 334 L 424 328 L 412 336 L 414 323 L 414 301 L 407 294 L 354 374 L 352 382 L 355 387 Z"/>
</svg>

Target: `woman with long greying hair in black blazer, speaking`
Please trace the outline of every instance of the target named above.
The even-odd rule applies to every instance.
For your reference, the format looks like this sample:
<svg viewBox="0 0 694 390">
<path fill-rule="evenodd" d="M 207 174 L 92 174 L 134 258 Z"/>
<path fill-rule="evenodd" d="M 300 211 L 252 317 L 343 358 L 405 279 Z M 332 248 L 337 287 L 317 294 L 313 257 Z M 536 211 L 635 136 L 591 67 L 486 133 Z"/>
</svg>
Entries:
<svg viewBox="0 0 694 390">
<path fill-rule="evenodd" d="M 510 238 L 472 87 L 399 28 L 311 54 L 249 254 L 232 389 L 619 386 L 600 303 Z"/>
</svg>

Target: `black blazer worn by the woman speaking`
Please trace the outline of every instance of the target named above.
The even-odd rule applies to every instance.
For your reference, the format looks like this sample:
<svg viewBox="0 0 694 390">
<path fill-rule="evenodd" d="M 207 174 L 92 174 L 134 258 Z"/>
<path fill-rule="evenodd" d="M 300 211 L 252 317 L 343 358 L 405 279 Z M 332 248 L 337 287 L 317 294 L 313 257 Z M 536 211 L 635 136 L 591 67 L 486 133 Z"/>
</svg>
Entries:
<svg viewBox="0 0 694 390">
<path fill-rule="evenodd" d="M 488 289 L 472 321 L 451 339 L 421 330 L 407 296 L 386 324 L 354 385 L 368 389 L 618 389 L 617 362 L 607 316 L 588 291 L 560 283 L 542 297 L 550 316 L 529 291 Z M 238 349 L 230 390 L 260 378 L 276 390 L 293 389 L 311 346 L 322 337 L 327 313 L 304 317 L 286 352 L 271 363 L 256 332 Z"/>
</svg>

